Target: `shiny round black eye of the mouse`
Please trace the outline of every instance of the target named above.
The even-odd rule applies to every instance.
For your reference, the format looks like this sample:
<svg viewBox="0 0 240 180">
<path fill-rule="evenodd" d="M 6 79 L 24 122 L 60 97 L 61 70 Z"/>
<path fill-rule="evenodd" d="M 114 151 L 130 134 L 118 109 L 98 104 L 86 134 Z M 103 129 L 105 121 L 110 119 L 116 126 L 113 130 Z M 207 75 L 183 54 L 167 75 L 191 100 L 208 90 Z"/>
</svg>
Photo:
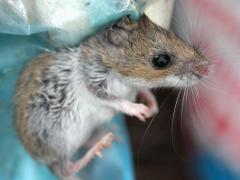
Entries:
<svg viewBox="0 0 240 180">
<path fill-rule="evenodd" d="M 168 67 L 169 65 L 171 65 L 172 58 L 171 58 L 171 56 L 169 56 L 167 54 L 160 54 L 158 56 L 155 56 L 152 59 L 151 63 L 155 69 L 164 69 L 164 68 Z"/>
</svg>

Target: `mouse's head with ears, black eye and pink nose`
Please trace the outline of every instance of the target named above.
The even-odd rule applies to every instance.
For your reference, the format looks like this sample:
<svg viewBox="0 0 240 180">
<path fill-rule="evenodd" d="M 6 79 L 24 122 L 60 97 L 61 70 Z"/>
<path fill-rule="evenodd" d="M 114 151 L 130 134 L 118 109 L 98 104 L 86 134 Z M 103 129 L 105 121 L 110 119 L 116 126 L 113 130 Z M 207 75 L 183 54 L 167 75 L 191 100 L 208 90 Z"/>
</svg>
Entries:
<svg viewBox="0 0 240 180">
<path fill-rule="evenodd" d="M 140 86 L 193 85 L 209 72 L 197 49 L 146 16 L 124 17 L 91 41 L 104 66 Z"/>
</svg>

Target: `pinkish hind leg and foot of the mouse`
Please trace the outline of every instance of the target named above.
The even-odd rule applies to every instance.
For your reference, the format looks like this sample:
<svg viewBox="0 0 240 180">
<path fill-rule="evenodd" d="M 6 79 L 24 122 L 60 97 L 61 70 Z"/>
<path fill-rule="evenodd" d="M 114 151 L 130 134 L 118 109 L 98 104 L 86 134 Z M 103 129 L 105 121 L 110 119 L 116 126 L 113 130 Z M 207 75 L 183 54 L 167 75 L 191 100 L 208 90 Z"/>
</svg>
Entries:
<svg viewBox="0 0 240 180">
<path fill-rule="evenodd" d="M 75 178 L 75 174 L 83 169 L 96 155 L 101 157 L 101 151 L 109 147 L 113 140 L 113 134 L 107 133 L 103 136 L 81 159 L 71 162 L 69 160 L 62 160 L 60 163 L 53 163 L 50 169 L 59 176 L 62 180 L 67 178 Z M 70 179 L 69 179 L 70 180 Z"/>
</svg>

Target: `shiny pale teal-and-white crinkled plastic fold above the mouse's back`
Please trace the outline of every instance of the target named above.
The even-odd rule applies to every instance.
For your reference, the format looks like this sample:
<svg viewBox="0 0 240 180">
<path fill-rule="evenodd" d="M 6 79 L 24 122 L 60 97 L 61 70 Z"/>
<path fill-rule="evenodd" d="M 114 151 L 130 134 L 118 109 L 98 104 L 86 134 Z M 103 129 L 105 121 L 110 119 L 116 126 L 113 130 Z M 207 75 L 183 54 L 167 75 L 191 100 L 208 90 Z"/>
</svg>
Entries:
<svg viewBox="0 0 240 180">
<path fill-rule="evenodd" d="M 73 45 L 124 15 L 138 16 L 133 0 L 1 0 L 0 32 L 49 32 L 58 45 Z"/>
</svg>

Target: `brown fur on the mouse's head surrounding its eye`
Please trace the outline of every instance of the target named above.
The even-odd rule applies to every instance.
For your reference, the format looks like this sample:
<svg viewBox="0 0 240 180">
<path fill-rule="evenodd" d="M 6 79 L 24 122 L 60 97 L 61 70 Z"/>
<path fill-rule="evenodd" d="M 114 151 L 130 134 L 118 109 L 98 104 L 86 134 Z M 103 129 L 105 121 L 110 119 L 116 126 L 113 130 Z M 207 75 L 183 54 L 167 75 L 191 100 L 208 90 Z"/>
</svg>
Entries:
<svg viewBox="0 0 240 180">
<path fill-rule="evenodd" d="M 143 16 L 139 22 L 132 22 L 123 18 L 116 27 L 124 29 L 128 34 L 131 47 L 114 47 L 109 44 L 99 44 L 98 36 L 85 42 L 87 47 L 83 51 L 89 54 L 91 49 L 97 50 L 105 66 L 125 76 L 143 78 L 154 82 L 161 77 L 179 73 L 184 61 L 192 60 L 201 63 L 204 58 L 196 49 L 188 45 L 174 33 L 151 23 Z M 107 48 L 106 48 L 107 47 Z M 152 67 L 151 59 L 159 54 L 159 49 L 171 54 L 175 63 L 169 68 L 156 70 Z"/>
</svg>

